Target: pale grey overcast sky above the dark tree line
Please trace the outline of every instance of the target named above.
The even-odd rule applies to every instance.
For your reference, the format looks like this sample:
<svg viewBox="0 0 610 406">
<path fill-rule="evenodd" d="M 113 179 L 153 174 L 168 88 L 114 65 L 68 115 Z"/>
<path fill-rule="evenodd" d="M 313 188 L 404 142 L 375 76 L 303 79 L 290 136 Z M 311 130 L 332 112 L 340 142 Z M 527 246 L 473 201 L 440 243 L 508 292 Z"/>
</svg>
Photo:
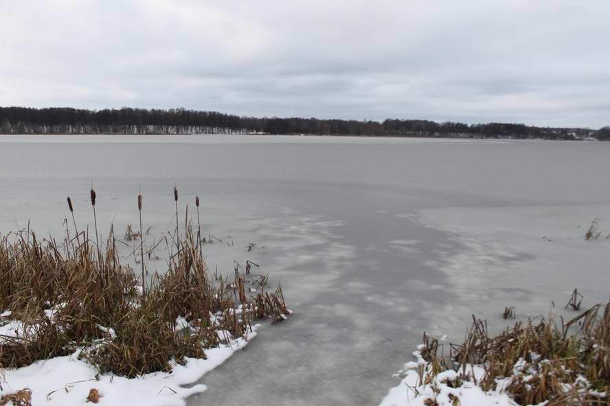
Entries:
<svg viewBox="0 0 610 406">
<path fill-rule="evenodd" d="M 609 0 L 0 0 L 0 105 L 610 124 Z"/>
</svg>

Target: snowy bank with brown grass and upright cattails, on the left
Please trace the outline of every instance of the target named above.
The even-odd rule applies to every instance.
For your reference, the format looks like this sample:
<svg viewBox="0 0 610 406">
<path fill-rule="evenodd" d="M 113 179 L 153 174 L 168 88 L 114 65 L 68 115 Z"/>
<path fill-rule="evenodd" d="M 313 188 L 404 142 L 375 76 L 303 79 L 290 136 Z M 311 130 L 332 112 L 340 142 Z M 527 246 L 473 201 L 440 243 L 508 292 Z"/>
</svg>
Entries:
<svg viewBox="0 0 610 406">
<path fill-rule="evenodd" d="M 199 224 L 185 222 L 182 235 L 177 225 L 167 270 L 149 277 L 142 225 L 136 272 L 121 263 L 113 228 L 102 249 L 72 219 L 63 243 L 29 227 L 0 241 L 0 405 L 182 405 L 205 390 L 183 385 L 243 348 L 260 320 L 291 313 L 251 263 L 211 275 Z"/>
</svg>

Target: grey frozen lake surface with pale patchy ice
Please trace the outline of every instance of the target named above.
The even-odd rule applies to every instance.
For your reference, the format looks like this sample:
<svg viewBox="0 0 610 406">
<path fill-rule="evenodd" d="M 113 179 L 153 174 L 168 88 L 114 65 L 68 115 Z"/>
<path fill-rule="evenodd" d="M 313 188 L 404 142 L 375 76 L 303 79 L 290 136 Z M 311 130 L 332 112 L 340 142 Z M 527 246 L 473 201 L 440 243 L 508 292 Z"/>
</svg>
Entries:
<svg viewBox="0 0 610 406">
<path fill-rule="evenodd" d="M 29 219 L 60 235 L 67 195 L 93 224 L 93 183 L 100 232 L 137 224 L 141 187 L 155 238 L 177 184 L 223 239 L 205 246 L 210 268 L 260 264 L 295 311 L 190 404 L 376 405 L 423 331 L 459 340 L 472 313 L 504 326 L 505 306 L 561 313 L 575 287 L 585 307 L 609 298 L 610 240 L 584 241 L 596 217 L 610 232 L 609 156 L 567 141 L 0 136 L 0 231 Z"/>
</svg>

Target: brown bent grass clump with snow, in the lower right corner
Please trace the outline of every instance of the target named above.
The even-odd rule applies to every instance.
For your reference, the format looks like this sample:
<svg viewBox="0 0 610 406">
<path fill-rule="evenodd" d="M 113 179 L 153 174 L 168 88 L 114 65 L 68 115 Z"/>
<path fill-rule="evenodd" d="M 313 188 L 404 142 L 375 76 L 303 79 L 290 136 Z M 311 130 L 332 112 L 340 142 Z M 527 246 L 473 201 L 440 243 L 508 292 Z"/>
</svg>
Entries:
<svg viewBox="0 0 610 406">
<path fill-rule="evenodd" d="M 495 336 L 473 316 L 466 340 L 452 344 L 448 358 L 427 335 L 419 356 L 424 361 L 419 383 L 437 394 L 436 377 L 453 370 L 449 387 L 470 381 L 485 392 L 508 394 L 519 405 L 608 405 L 610 302 L 567 322 L 517 322 Z M 436 405 L 434 398 L 427 401 Z"/>
</svg>

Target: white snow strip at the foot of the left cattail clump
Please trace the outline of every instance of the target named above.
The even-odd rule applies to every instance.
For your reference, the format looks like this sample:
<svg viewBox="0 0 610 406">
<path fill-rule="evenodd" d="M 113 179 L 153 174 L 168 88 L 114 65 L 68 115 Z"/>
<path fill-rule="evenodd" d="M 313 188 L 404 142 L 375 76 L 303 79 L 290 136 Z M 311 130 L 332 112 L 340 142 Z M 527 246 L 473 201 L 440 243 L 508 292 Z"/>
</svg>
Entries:
<svg viewBox="0 0 610 406">
<path fill-rule="evenodd" d="M 253 330 L 258 325 L 253 326 Z M 136 379 L 100 374 L 89 363 L 79 360 L 77 351 L 66 357 L 38 361 L 19 369 L 4 370 L 0 397 L 24 387 L 32 390 L 33 405 L 73 406 L 87 402 L 89 390 L 100 392 L 100 405 L 109 406 L 182 406 L 185 398 L 204 392 L 206 385 L 190 385 L 221 365 L 237 350 L 242 350 L 256 331 L 230 344 L 205 350 L 207 359 L 186 359 L 184 366 L 174 365 L 171 373 L 146 374 Z"/>
</svg>

